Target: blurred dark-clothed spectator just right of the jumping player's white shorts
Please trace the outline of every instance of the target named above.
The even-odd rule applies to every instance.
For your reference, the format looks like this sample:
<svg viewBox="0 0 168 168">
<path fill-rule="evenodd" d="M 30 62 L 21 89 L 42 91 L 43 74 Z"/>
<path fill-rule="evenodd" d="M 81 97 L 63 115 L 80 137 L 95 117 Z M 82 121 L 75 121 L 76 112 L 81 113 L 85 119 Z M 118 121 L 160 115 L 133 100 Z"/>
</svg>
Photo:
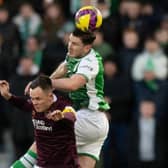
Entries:
<svg viewBox="0 0 168 168">
<path fill-rule="evenodd" d="M 110 129 L 104 143 L 103 165 L 105 168 L 127 167 L 127 134 L 128 123 L 131 119 L 132 95 L 128 78 L 120 74 L 116 62 L 112 58 L 104 61 L 105 99 L 111 109 Z M 123 139 L 125 143 L 122 143 Z"/>
</svg>

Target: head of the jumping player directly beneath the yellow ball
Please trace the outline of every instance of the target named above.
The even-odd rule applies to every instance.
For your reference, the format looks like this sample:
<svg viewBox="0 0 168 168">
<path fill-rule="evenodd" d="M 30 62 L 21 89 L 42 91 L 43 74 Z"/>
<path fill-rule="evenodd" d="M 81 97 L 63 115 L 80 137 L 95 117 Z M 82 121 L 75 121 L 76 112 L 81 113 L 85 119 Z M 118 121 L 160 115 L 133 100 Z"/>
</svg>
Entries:
<svg viewBox="0 0 168 168">
<path fill-rule="evenodd" d="M 75 29 L 69 36 L 68 54 L 71 57 L 83 57 L 92 48 L 96 36 L 93 32 Z"/>
</svg>

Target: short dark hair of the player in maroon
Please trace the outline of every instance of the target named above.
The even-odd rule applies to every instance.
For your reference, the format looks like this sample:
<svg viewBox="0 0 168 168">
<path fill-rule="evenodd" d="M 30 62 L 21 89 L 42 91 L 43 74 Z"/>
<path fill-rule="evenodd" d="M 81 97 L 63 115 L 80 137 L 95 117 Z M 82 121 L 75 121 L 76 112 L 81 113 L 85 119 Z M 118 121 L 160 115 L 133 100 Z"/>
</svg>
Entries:
<svg viewBox="0 0 168 168">
<path fill-rule="evenodd" d="M 31 89 L 40 87 L 42 90 L 52 90 L 51 79 L 47 75 L 39 75 L 30 85 Z"/>
</svg>

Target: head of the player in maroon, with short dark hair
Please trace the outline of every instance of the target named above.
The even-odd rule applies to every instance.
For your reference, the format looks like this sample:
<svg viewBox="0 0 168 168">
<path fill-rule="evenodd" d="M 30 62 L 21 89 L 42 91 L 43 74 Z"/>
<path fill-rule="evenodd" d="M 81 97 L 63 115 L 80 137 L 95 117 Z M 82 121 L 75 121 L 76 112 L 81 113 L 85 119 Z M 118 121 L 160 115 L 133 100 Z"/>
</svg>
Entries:
<svg viewBox="0 0 168 168">
<path fill-rule="evenodd" d="M 52 83 L 48 76 L 40 75 L 30 85 L 30 97 L 37 112 L 46 111 L 53 103 Z"/>
</svg>

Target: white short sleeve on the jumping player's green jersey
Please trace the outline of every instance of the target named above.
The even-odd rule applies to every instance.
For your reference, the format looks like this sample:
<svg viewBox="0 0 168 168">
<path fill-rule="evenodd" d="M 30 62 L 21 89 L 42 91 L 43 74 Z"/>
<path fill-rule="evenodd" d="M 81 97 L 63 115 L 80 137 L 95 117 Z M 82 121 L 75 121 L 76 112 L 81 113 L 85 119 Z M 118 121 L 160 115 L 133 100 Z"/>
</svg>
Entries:
<svg viewBox="0 0 168 168">
<path fill-rule="evenodd" d="M 83 75 L 87 80 L 93 79 L 98 73 L 98 62 L 90 58 L 83 59 L 77 68 L 76 74 Z"/>
</svg>

